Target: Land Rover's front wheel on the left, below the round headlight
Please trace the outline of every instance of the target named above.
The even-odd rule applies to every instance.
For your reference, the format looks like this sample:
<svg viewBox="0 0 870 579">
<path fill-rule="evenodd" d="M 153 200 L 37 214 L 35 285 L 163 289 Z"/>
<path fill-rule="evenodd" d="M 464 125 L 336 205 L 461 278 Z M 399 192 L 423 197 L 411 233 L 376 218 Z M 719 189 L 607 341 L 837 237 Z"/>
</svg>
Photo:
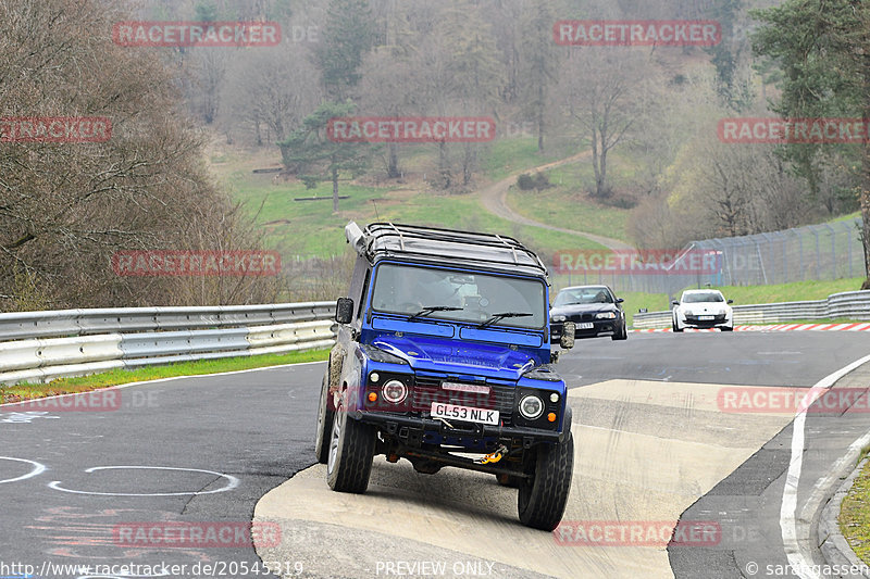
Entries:
<svg viewBox="0 0 870 579">
<path fill-rule="evenodd" d="M 375 431 L 347 415 L 347 391 L 341 394 L 333 418 L 326 482 L 338 492 L 363 493 L 369 488 L 374 457 Z"/>
</svg>

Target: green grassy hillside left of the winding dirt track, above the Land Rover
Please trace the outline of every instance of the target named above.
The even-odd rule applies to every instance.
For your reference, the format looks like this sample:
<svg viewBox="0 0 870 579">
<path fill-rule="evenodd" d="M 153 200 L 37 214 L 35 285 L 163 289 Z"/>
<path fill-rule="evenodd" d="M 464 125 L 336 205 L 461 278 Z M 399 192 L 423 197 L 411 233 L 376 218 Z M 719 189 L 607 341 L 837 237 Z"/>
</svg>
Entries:
<svg viewBox="0 0 870 579">
<path fill-rule="evenodd" d="M 530 147 L 529 139 L 498 141 L 482 163 L 492 175 L 481 177 L 484 186 L 489 176 L 509 174 L 514 166 L 535 166 L 549 161 Z M 409 164 L 424 164 L 422 153 L 412 154 Z M 339 212 L 333 213 L 332 185 L 321 182 L 306 189 L 299 181 L 273 181 L 274 174 L 253 174 L 253 168 L 278 166 L 277 150 L 258 151 L 241 155 L 225 151 L 212 155 L 212 169 L 233 199 L 241 202 L 248 215 L 265 231 L 270 249 L 282 253 L 285 260 L 295 255 L 303 257 L 339 255 L 345 251 L 345 225 L 353 219 L 360 224 L 374 221 L 412 223 L 457 229 L 476 229 L 499 232 L 518 238 L 544 254 L 563 249 L 568 243 L 581 249 L 600 249 L 600 246 L 581 237 L 566 236 L 536 227 L 519 226 L 496 217 L 483 209 L 476 194 L 449 194 L 432 190 L 425 182 L 390 182 L 385 186 L 341 181 L 339 194 L 349 196 L 339 202 Z M 316 197 L 318 201 L 294 201 L 295 198 Z"/>
</svg>

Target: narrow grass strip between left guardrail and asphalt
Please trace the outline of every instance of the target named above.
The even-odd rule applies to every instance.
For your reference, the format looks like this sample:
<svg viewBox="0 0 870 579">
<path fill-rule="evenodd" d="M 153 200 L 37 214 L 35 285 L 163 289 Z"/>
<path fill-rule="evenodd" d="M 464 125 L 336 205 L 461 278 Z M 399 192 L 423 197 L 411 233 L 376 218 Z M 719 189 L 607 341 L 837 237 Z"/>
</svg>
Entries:
<svg viewBox="0 0 870 579">
<path fill-rule="evenodd" d="M 90 392 L 99 388 L 108 388 L 129 382 L 141 382 L 173 376 L 200 376 L 203 374 L 220 374 L 223 372 L 245 370 L 295 364 L 300 362 L 320 362 L 330 355 L 328 350 L 310 350 L 307 352 L 288 352 L 286 354 L 263 354 L 258 356 L 239 356 L 221 360 L 200 360 L 196 362 L 178 362 L 165 366 L 148 366 L 127 369 L 113 369 L 90 376 L 74 378 L 59 378 L 48 383 L 20 383 L 15 386 L 0 386 L 0 402 L 21 402 L 60 394 L 76 392 Z"/>
</svg>

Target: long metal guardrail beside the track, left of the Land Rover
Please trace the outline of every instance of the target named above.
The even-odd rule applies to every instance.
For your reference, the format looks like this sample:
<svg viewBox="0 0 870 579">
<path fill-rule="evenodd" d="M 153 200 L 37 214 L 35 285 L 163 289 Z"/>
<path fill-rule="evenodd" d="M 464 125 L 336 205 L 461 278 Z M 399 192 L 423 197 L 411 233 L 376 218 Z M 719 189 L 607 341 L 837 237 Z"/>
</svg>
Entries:
<svg viewBox="0 0 870 579">
<path fill-rule="evenodd" d="M 333 302 L 0 314 L 0 383 L 335 343 Z"/>
</svg>

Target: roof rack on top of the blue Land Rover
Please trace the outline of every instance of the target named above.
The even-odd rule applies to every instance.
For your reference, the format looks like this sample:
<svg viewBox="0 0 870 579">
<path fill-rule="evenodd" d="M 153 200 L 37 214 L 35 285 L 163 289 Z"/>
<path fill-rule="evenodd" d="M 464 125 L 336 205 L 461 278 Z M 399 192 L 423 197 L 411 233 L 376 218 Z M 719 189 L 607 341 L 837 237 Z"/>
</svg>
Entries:
<svg viewBox="0 0 870 579">
<path fill-rule="evenodd" d="M 348 224 L 348 227 L 351 225 Z M 377 254 L 425 261 L 449 259 L 483 263 L 496 269 L 521 269 L 535 275 L 547 273 L 546 266 L 535 252 L 507 236 L 419 225 L 373 223 L 362 231 L 362 238 L 363 243 L 358 243 L 350 237 L 348 241 L 372 260 Z"/>
</svg>

